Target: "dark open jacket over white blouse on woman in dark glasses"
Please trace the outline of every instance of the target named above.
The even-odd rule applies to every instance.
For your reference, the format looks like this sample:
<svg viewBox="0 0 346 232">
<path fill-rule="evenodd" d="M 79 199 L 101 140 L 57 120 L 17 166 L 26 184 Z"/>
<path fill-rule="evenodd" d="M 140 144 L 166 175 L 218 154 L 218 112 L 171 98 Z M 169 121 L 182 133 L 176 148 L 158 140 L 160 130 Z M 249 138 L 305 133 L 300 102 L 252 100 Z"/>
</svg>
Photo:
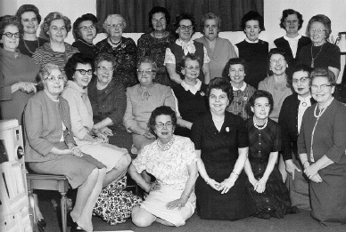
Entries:
<svg viewBox="0 0 346 232">
<path fill-rule="evenodd" d="M 311 105 L 316 103 L 313 98 L 310 99 Z M 298 94 L 292 93 L 284 99 L 281 107 L 279 121 L 283 141 L 284 161 L 292 159 L 292 153 L 298 158 L 297 140 L 298 140 L 298 109 L 301 101 L 298 100 Z"/>
</svg>

